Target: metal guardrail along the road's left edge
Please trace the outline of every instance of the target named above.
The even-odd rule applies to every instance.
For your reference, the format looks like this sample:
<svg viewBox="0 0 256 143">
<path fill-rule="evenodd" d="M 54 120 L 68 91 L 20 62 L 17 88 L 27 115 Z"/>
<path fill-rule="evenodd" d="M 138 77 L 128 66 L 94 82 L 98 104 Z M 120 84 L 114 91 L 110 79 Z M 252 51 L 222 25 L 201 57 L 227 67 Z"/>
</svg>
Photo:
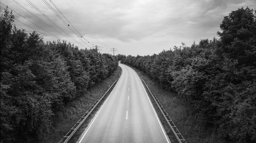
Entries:
<svg viewBox="0 0 256 143">
<path fill-rule="evenodd" d="M 69 139 L 74 135 L 77 129 L 83 124 L 84 121 L 86 121 L 87 117 L 92 113 L 92 111 L 100 103 L 100 101 L 104 98 L 104 96 L 111 91 L 111 89 L 114 87 L 115 84 L 116 84 L 116 80 L 105 93 L 101 94 L 101 96 L 94 102 L 94 104 L 86 111 L 86 113 L 84 113 L 81 116 L 78 122 L 69 130 L 69 132 L 65 136 L 63 136 L 63 138 L 58 143 L 67 143 L 69 141 Z"/>
</svg>

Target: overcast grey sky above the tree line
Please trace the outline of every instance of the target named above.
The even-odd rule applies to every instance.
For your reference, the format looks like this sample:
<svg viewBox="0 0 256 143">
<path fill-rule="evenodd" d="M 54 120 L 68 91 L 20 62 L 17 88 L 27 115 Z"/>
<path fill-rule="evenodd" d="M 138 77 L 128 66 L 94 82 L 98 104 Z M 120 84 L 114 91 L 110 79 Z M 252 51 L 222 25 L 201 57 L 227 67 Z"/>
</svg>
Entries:
<svg viewBox="0 0 256 143">
<path fill-rule="evenodd" d="M 66 40 L 79 49 L 98 45 L 100 53 L 113 54 L 111 50 L 115 48 L 115 55 L 133 56 L 158 54 L 174 45 L 180 46 L 181 42 L 190 46 L 194 41 L 218 38 L 224 16 L 241 7 L 256 8 L 255 0 L 1 0 L 1 3 L 19 14 L 13 12 L 18 20 L 14 21 L 16 27 L 28 33 L 36 30 L 45 41 Z M 1 4 L 1 11 L 4 5 Z"/>
</svg>

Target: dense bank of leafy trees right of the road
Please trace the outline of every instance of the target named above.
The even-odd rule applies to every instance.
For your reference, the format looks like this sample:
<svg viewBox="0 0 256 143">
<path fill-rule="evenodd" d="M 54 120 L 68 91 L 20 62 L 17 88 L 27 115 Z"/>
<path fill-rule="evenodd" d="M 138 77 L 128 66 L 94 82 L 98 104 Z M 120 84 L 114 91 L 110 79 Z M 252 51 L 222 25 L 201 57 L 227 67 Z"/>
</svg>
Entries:
<svg viewBox="0 0 256 143">
<path fill-rule="evenodd" d="M 204 39 L 152 56 L 119 55 L 174 90 L 194 107 L 198 121 L 227 142 L 256 142 L 256 11 L 224 17 L 220 39 Z"/>
</svg>

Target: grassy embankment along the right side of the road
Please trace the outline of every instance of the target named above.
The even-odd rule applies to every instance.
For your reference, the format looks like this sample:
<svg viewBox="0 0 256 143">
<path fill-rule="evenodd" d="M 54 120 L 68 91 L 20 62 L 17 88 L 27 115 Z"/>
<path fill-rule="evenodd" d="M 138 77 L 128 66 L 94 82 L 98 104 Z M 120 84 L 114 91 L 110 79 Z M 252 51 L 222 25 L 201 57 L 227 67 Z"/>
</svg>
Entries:
<svg viewBox="0 0 256 143">
<path fill-rule="evenodd" d="M 150 88 L 150 90 L 156 94 L 162 106 L 165 108 L 170 118 L 172 118 L 173 122 L 178 127 L 179 131 L 187 142 L 223 142 L 215 134 L 216 131 L 214 131 L 212 128 L 207 129 L 201 125 L 201 123 L 197 120 L 197 116 L 193 108 L 182 102 L 177 93 L 162 89 L 157 81 L 148 77 L 143 71 L 136 68 L 133 69 L 135 69 L 137 74 L 144 79 L 148 88 Z M 167 122 L 157 107 L 157 104 L 155 101 L 153 101 L 154 99 L 151 98 L 151 100 L 166 130 L 166 133 L 169 134 L 170 141 L 172 143 L 177 142 L 172 130 L 169 129 Z"/>
</svg>

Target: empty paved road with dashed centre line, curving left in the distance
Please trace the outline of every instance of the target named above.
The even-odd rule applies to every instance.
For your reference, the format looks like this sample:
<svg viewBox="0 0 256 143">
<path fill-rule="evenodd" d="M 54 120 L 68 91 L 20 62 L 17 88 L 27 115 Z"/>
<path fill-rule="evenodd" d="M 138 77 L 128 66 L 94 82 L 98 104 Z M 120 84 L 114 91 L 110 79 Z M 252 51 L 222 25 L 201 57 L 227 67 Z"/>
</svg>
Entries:
<svg viewBox="0 0 256 143">
<path fill-rule="evenodd" d="M 169 142 L 137 73 L 119 66 L 119 81 L 78 142 Z"/>
</svg>

